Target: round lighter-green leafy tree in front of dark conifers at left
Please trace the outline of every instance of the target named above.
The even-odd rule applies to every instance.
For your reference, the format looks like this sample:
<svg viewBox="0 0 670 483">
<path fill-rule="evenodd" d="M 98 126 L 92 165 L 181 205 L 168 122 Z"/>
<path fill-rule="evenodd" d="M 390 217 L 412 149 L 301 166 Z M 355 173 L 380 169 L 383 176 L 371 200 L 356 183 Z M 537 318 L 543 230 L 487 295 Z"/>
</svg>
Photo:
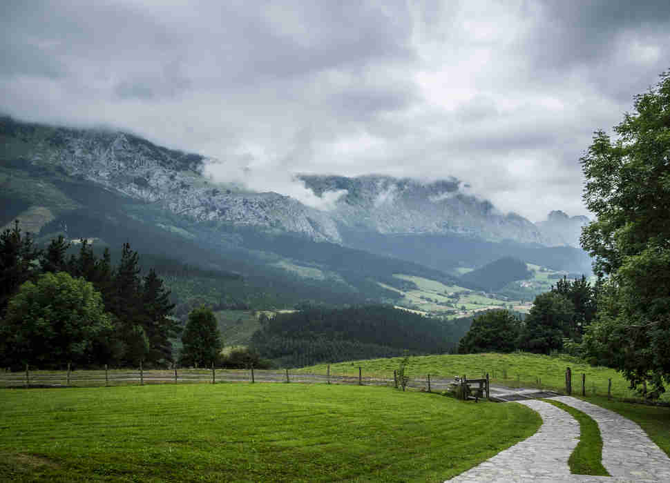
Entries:
<svg viewBox="0 0 670 483">
<path fill-rule="evenodd" d="M 0 350 L 9 365 L 89 364 L 112 331 L 93 284 L 68 273 L 45 273 L 25 282 L 0 322 Z"/>
</svg>

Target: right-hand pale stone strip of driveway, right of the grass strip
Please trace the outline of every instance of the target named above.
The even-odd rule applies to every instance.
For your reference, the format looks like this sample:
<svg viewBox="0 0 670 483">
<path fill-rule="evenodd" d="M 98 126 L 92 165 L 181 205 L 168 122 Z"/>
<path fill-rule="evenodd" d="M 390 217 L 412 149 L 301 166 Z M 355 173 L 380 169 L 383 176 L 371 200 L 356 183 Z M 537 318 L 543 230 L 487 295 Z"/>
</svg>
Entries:
<svg viewBox="0 0 670 483">
<path fill-rule="evenodd" d="M 626 481 L 670 482 L 670 458 L 638 424 L 576 397 L 552 399 L 579 409 L 597 422 L 602 437 L 602 466 L 610 475 Z"/>
</svg>

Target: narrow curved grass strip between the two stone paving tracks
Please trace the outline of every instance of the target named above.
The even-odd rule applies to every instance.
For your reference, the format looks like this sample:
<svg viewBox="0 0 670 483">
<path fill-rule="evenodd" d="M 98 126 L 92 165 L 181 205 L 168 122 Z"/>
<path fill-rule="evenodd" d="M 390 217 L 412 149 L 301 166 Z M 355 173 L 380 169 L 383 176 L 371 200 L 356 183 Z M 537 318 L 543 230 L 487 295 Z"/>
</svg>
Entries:
<svg viewBox="0 0 670 483">
<path fill-rule="evenodd" d="M 580 423 L 580 442 L 568 459 L 570 472 L 575 475 L 610 476 L 602 466 L 602 437 L 597 422 L 588 414 L 562 402 L 544 401 L 567 411 Z"/>
</svg>

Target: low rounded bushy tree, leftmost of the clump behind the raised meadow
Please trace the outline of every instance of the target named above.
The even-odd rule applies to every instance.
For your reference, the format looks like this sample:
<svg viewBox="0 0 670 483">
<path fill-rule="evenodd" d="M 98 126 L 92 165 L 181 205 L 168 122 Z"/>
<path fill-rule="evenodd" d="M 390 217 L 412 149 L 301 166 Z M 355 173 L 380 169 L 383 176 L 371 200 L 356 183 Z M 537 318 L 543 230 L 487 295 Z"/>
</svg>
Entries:
<svg viewBox="0 0 670 483">
<path fill-rule="evenodd" d="M 512 352 L 521 321 L 510 311 L 488 311 L 475 317 L 468 333 L 459 342 L 459 353 Z"/>
</svg>

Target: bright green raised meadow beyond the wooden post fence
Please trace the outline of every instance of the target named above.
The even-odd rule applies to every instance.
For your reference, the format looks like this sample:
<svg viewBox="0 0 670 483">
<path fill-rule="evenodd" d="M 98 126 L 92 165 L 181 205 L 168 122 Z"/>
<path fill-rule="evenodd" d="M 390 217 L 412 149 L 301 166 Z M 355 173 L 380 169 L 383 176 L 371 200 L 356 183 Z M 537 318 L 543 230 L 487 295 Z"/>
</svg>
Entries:
<svg viewBox="0 0 670 483">
<path fill-rule="evenodd" d="M 402 357 L 386 359 L 367 359 L 353 362 L 340 362 L 331 365 L 331 373 L 338 375 L 358 375 L 358 366 L 363 368 L 364 376 L 393 378 L 393 371 L 399 367 Z M 457 355 L 425 355 L 410 358 L 408 373 L 410 377 L 454 377 L 466 375 L 477 378 L 489 373 L 493 383 L 504 386 L 526 386 L 554 389 L 565 388 L 565 371 L 570 367 L 573 380 L 573 395 L 582 391 L 582 373 L 586 374 L 586 395 L 606 395 L 608 380 L 612 380 L 613 397 L 635 397 L 629 389 L 629 382 L 611 368 L 593 367 L 573 357 L 552 357 L 530 353 L 486 353 Z M 319 364 L 296 369 L 299 372 L 325 374 L 327 364 Z M 594 391 L 595 390 L 595 391 Z M 670 400 L 666 393 L 663 400 Z"/>
</svg>

